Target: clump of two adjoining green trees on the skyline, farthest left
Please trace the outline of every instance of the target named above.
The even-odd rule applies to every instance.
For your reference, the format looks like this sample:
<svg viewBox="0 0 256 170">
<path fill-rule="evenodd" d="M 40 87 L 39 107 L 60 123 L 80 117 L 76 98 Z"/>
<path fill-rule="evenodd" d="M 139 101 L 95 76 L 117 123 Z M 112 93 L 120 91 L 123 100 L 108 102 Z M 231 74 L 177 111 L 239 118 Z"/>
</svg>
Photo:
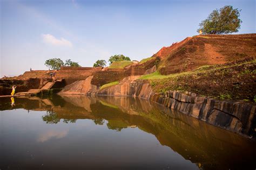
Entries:
<svg viewBox="0 0 256 170">
<path fill-rule="evenodd" d="M 50 58 L 45 61 L 44 65 L 51 70 L 59 70 L 60 66 L 80 67 L 78 62 L 72 62 L 71 59 L 67 59 L 64 64 L 60 58 Z"/>
</svg>

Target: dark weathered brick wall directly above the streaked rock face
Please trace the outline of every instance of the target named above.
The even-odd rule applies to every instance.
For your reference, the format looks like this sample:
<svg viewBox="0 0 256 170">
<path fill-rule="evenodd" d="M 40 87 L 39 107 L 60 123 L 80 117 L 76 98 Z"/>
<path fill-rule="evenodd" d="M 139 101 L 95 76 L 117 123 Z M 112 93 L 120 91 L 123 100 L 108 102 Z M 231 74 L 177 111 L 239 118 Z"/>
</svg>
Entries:
<svg viewBox="0 0 256 170">
<path fill-rule="evenodd" d="M 156 82 L 153 89 L 184 90 L 203 96 L 220 97 L 229 94 L 232 99 L 250 99 L 256 96 L 256 64 L 243 64 L 205 73 L 180 76 Z"/>
</svg>

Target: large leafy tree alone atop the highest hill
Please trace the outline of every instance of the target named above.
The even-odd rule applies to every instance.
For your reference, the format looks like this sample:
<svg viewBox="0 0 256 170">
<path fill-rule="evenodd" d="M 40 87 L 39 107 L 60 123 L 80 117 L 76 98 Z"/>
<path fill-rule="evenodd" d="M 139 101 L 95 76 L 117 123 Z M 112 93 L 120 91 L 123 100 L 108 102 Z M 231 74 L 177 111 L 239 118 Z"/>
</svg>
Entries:
<svg viewBox="0 0 256 170">
<path fill-rule="evenodd" d="M 215 9 L 210 13 L 207 19 L 202 21 L 199 26 L 203 34 L 224 34 L 238 32 L 240 29 L 240 23 L 242 22 L 239 19 L 240 11 L 238 9 L 233 9 L 233 6 L 226 5 L 223 8 Z"/>
</svg>

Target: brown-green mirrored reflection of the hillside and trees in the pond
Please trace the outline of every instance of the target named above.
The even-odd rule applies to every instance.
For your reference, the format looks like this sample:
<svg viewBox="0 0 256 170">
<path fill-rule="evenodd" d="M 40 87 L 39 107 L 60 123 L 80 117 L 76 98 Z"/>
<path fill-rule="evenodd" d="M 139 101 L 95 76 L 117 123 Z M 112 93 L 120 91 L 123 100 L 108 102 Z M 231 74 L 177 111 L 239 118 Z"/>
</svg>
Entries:
<svg viewBox="0 0 256 170">
<path fill-rule="evenodd" d="M 4 100 L 0 108 L 11 109 Z M 106 126 L 118 133 L 139 128 L 202 169 L 256 167 L 255 142 L 143 99 L 86 96 L 17 98 L 16 108 L 46 111 L 42 120 L 51 126 L 61 123 L 75 126 L 78 120 L 89 119 L 95 125 Z M 53 138 L 64 140 L 68 132 L 71 133 L 68 130 L 43 132 L 37 141 L 45 142 Z"/>
</svg>

